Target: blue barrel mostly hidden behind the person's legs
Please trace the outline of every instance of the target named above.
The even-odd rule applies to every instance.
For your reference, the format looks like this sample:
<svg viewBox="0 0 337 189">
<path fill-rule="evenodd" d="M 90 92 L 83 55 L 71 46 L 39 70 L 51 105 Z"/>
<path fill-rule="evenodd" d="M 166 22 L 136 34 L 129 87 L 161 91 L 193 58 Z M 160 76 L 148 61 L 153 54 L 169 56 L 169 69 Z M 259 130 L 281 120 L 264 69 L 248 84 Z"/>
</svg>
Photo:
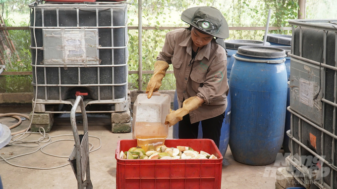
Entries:
<svg viewBox="0 0 337 189">
<path fill-rule="evenodd" d="M 178 98 L 177 98 L 177 92 L 176 91 L 175 91 L 175 94 L 174 94 L 173 109 L 174 110 L 178 109 Z M 224 157 L 225 157 L 225 153 L 227 151 L 228 142 L 229 142 L 230 113 L 231 113 L 231 99 L 230 99 L 230 93 L 228 93 L 227 108 L 225 110 L 225 119 L 224 119 L 223 125 L 221 127 L 220 146 L 219 146 L 219 150 Z M 173 139 L 179 139 L 179 137 L 178 137 L 178 127 L 179 127 L 178 123 L 173 125 Z M 201 122 L 199 123 L 198 139 L 202 139 Z"/>
</svg>

